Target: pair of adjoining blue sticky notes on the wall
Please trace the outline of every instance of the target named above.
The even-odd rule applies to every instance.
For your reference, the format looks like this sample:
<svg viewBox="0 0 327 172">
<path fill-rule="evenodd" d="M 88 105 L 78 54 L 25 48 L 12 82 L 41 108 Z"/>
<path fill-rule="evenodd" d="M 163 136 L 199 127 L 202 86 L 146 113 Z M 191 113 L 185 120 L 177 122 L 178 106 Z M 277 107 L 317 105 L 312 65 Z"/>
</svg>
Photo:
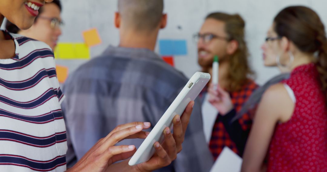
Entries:
<svg viewBox="0 0 327 172">
<path fill-rule="evenodd" d="M 160 55 L 186 55 L 186 40 L 162 39 L 159 41 Z"/>
</svg>

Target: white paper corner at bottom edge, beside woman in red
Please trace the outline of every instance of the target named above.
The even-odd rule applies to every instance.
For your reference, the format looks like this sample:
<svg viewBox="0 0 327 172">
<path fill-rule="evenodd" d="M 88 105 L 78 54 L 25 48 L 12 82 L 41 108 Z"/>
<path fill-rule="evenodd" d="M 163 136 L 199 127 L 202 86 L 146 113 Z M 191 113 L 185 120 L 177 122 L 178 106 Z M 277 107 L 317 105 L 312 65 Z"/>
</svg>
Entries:
<svg viewBox="0 0 327 172">
<path fill-rule="evenodd" d="M 225 146 L 210 172 L 240 172 L 242 161 L 241 157 Z"/>
</svg>

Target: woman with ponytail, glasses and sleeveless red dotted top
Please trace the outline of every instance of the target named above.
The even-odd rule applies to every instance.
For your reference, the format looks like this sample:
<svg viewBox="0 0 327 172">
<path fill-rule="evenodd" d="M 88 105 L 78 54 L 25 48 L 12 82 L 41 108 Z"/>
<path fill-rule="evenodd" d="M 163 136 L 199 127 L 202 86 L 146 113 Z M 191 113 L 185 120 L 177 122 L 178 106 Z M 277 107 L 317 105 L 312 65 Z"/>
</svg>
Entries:
<svg viewBox="0 0 327 172">
<path fill-rule="evenodd" d="M 327 171 L 327 39 L 307 7 L 287 7 L 263 44 L 264 62 L 291 72 L 263 94 L 246 144 L 242 172 Z"/>
</svg>

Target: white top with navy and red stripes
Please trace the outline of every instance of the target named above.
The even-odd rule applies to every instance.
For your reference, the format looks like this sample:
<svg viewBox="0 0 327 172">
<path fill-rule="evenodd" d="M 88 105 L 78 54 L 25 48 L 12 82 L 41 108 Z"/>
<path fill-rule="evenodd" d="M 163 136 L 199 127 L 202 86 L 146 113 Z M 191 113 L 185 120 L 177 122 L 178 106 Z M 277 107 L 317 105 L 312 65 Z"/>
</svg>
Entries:
<svg viewBox="0 0 327 172">
<path fill-rule="evenodd" d="M 64 95 L 53 52 L 43 42 L 4 33 L 16 56 L 0 59 L 0 171 L 64 171 Z"/>
</svg>

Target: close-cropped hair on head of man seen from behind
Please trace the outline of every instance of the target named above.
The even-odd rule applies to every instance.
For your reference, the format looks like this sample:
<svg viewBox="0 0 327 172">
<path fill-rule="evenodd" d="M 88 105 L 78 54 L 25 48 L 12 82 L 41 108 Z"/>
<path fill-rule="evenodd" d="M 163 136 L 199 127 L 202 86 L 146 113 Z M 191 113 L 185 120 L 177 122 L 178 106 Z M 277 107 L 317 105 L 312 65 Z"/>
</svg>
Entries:
<svg viewBox="0 0 327 172">
<path fill-rule="evenodd" d="M 163 16 L 163 0 L 118 0 L 121 24 L 141 32 L 154 31 Z"/>
</svg>

